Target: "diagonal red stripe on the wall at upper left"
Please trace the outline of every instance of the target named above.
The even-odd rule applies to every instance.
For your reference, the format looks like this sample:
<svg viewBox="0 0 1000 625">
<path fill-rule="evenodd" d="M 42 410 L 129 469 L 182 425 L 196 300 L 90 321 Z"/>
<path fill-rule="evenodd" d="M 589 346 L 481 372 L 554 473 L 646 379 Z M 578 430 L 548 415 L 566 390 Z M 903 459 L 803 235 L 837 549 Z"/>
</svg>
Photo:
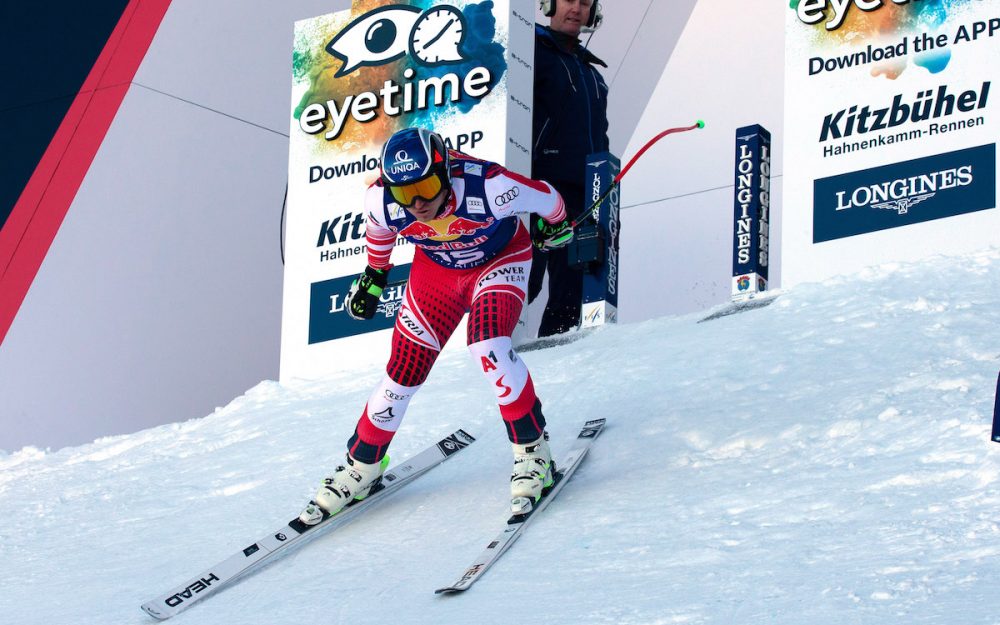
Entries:
<svg viewBox="0 0 1000 625">
<path fill-rule="evenodd" d="M 170 0 L 131 0 L 0 230 L 0 343 L 31 287 Z"/>
</svg>

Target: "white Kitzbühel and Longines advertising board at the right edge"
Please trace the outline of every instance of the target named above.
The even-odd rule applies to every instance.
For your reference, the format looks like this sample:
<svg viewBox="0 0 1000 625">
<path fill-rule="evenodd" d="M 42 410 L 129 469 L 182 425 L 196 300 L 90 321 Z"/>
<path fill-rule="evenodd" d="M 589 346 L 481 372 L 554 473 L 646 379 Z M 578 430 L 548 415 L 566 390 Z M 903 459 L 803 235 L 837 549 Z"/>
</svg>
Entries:
<svg viewBox="0 0 1000 625">
<path fill-rule="evenodd" d="M 997 244 L 1000 5 L 792 0 L 782 284 Z"/>
</svg>

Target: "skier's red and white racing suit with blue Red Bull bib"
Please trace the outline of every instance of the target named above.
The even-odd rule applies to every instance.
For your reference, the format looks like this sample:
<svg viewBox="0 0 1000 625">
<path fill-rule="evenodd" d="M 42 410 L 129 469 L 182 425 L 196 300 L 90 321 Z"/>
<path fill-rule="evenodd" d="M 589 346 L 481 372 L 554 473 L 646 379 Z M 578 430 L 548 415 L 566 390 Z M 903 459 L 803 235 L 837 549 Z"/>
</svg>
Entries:
<svg viewBox="0 0 1000 625">
<path fill-rule="evenodd" d="M 510 441 L 537 440 L 545 428 L 531 375 L 510 338 L 527 297 L 532 257 L 531 238 L 517 215 L 535 213 L 559 223 L 566 218 L 563 199 L 547 182 L 449 154 L 451 192 L 436 219 L 417 221 L 381 180 L 365 197 L 368 264 L 390 267 L 398 237 L 416 250 L 386 375 L 348 441 L 348 452 L 361 462 L 383 458 L 407 405 L 466 312 L 466 343 L 496 392 Z"/>
</svg>

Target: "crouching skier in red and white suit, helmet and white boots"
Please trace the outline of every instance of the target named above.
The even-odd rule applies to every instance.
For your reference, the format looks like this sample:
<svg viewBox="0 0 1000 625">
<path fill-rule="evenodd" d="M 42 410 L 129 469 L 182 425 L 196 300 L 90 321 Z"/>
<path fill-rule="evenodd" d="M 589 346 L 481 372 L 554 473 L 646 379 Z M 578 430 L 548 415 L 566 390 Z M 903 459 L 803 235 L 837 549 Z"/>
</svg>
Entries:
<svg viewBox="0 0 1000 625">
<path fill-rule="evenodd" d="M 348 314 L 358 320 L 375 315 L 398 237 L 416 247 L 413 265 L 386 375 L 348 440 L 346 463 L 323 481 L 299 518 L 316 524 L 324 511 L 336 514 L 378 483 L 407 405 L 467 311 L 469 351 L 496 391 L 513 447 L 511 508 L 530 510 L 552 485 L 554 464 L 542 404 L 510 338 L 532 257 L 517 215 L 540 217 L 537 245 L 563 247 L 573 229 L 562 197 L 547 182 L 449 151 L 440 135 L 407 128 L 382 148 L 381 176 L 368 188 L 365 210 L 368 266 L 347 293 Z"/>
</svg>

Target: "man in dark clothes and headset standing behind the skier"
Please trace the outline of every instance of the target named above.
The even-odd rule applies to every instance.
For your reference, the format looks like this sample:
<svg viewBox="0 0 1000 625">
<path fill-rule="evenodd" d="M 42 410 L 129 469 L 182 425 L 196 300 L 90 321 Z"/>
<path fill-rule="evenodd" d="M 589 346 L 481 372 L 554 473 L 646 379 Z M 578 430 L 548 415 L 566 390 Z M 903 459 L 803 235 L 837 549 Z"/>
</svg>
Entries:
<svg viewBox="0 0 1000 625">
<path fill-rule="evenodd" d="M 531 176 L 547 180 L 566 201 L 570 220 L 584 200 L 587 156 L 608 151 L 608 85 L 595 65 L 607 67 L 580 43 L 580 33 L 601 21 L 597 0 L 542 0 L 549 26 L 535 25 L 535 104 Z M 538 216 L 532 218 L 537 228 Z M 534 252 L 528 301 L 549 272 L 549 299 L 538 336 L 566 332 L 580 323 L 583 272 L 571 268 L 565 248 Z"/>
</svg>

